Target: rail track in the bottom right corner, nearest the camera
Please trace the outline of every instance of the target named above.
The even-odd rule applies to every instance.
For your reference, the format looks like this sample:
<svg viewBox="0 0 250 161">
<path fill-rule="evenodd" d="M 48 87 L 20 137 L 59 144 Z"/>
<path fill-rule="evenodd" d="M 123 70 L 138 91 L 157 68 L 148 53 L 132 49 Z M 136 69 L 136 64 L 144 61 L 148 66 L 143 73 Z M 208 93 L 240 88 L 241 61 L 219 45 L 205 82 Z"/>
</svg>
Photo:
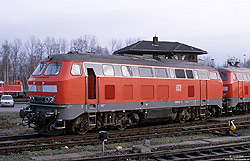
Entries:
<svg viewBox="0 0 250 161">
<path fill-rule="evenodd" d="M 112 161 L 112 160 L 229 160 L 237 159 L 249 159 L 250 158 L 250 142 L 223 144 L 216 146 L 203 146 L 188 149 L 178 150 L 163 150 L 153 151 L 149 153 L 127 153 L 123 155 L 113 156 L 100 156 L 100 157 L 86 157 L 80 159 L 74 159 L 76 161 Z M 240 157 L 240 158 L 239 158 Z"/>
</svg>

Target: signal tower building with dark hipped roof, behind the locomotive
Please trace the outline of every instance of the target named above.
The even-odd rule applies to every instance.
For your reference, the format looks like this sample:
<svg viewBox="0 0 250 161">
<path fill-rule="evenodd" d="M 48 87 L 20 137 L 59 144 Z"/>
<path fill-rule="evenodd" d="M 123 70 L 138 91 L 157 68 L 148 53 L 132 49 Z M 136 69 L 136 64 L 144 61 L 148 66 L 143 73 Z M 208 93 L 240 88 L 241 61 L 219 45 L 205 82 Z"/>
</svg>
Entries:
<svg viewBox="0 0 250 161">
<path fill-rule="evenodd" d="M 198 55 L 207 54 L 207 51 L 179 42 L 158 41 L 158 37 L 155 36 L 153 41 L 138 41 L 113 54 L 197 62 Z"/>
</svg>

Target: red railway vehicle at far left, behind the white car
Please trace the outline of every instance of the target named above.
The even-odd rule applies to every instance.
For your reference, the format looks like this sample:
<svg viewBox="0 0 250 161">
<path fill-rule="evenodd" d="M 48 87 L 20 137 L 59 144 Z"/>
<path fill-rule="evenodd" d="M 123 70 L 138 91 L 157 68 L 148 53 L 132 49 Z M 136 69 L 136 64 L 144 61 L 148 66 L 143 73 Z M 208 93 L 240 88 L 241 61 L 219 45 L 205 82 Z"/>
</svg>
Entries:
<svg viewBox="0 0 250 161">
<path fill-rule="evenodd" d="M 14 82 L 0 81 L 0 95 L 10 94 L 12 96 L 23 96 L 23 83 L 20 80 Z"/>
</svg>

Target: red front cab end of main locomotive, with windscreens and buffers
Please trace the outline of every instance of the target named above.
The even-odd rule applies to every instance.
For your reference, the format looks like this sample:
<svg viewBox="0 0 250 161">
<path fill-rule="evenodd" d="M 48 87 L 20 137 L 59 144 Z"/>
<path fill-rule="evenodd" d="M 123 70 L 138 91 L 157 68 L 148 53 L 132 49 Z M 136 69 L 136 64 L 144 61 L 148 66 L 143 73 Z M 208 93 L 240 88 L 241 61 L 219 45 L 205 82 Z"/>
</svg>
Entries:
<svg viewBox="0 0 250 161">
<path fill-rule="evenodd" d="M 39 133 L 58 134 L 65 121 L 78 116 L 74 104 L 84 103 L 84 76 L 80 62 L 43 61 L 28 80 L 30 105 L 21 118 Z M 67 93 L 67 94 L 66 94 Z"/>
</svg>

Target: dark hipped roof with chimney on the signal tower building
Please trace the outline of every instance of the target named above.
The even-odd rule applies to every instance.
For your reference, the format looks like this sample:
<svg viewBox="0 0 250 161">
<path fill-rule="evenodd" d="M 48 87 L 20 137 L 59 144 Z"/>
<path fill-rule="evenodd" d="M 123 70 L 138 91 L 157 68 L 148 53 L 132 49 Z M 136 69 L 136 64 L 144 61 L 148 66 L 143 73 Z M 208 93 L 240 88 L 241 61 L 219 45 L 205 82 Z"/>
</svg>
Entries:
<svg viewBox="0 0 250 161">
<path fill-rule="evenodd" d="M 182 44 L 179 42 L 158 41 L 158 37 L 154 37 L 153 41 L 138 41 L 132 45 L 126 46 L 113 53 L 114 55 L 168 55 L 176 54 L 207 54 L 207 51 L 199 48 Z"/>
</svg>

